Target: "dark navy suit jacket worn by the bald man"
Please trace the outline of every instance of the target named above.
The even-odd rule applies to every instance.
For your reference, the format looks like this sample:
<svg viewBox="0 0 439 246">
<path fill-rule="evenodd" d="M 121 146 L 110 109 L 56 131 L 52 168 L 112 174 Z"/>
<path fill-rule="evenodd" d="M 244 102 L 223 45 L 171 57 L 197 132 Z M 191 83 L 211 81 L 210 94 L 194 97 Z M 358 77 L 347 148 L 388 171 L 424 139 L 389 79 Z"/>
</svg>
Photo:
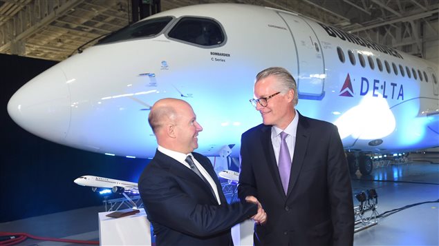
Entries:
<svg viewBox="0 0 439 246">
<path fill-rule="evenodd" d="M 138 182 L 156 245 L 233 245 L 230 228 L 256 214 L 257 206 L 227 204 L 212 163 L 192 154 L 214 179 L 221 205 L 192 170 L 157 150 Z"/>
</svg>

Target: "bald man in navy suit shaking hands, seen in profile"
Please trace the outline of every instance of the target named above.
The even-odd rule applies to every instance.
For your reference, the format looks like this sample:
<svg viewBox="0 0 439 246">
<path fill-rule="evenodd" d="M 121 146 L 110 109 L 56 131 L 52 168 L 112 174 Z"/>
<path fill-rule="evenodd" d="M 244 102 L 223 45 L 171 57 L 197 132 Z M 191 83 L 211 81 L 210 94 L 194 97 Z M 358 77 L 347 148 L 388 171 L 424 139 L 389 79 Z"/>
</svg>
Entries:
<svg viewBox="0 0 439 246">
<path fill-rule="evenodd" d="M 138 187 L 156 245 L 233 245 L 233 225 L 247 218 L 265 221 L 257 202 L 227 204 L 212 163 L 193 152 L 203 128 L 189 103 L 161 99 L 148 121 L 158 149 Z"/>
</svg>

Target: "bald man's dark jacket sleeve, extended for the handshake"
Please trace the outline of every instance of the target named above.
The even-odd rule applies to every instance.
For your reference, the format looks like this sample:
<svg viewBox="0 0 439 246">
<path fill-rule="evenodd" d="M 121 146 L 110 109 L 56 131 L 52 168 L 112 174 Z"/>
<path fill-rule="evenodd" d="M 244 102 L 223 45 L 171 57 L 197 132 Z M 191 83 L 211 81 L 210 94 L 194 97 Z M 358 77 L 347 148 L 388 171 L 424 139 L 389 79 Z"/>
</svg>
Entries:
<svg viewBox="0 0 439 246">
<path fill-rule="evenodd" d="M 151 221 L 178 232 L 211 236 L 230 229 L 257 212 L 257 206 L 252 203 L 197 203 L 194 194 L 184 192 L 167 170 L 156 167 L 148 172 L 149 175 L 143 176 L 139 182 L 147 214 Z"/>
</svg>

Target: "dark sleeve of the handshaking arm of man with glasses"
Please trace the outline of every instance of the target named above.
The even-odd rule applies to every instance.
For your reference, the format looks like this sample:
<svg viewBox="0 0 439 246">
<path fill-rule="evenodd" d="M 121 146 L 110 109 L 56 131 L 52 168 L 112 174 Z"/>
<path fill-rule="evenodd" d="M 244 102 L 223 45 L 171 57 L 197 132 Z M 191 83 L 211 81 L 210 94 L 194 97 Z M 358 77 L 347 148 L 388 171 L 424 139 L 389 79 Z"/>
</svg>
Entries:
<svg viewBox="0 0 439 246">
<path fill-rule="evenodd" d="M 252 157 L 248 150 L 245 134 L 241 136 L 241 165 L 239 170 L 238 196 L 244 200 L 246 196 L 257 196 L 256 181 L 254 180 Z"/>
</svg>

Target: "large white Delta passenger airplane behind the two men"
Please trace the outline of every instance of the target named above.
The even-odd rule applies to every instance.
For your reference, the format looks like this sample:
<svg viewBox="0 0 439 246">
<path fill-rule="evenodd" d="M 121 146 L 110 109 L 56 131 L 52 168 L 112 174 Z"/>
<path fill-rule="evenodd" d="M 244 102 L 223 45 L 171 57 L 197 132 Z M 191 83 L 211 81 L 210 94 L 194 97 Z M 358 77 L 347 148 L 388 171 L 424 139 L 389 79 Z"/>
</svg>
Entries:
<svg viewBox="0 0 439 246">
<path fill-rule="evenodd" d="M 254 18 L 257 17 L 257 18 Z M 439 145 L 438 65 L 299 13 L 209 3 L 154 14 L 100 39 L 20 88 L 11 118 L 43 139 L 102 154 L 151 158 L 151 105 L 183 99 L 204 130 L 206 156 L 261 123 L 254 77 L 272 66 L 297 81 L 297 110 L 335 123 L 351 171 L 371 153 Z"/>
</svg>

